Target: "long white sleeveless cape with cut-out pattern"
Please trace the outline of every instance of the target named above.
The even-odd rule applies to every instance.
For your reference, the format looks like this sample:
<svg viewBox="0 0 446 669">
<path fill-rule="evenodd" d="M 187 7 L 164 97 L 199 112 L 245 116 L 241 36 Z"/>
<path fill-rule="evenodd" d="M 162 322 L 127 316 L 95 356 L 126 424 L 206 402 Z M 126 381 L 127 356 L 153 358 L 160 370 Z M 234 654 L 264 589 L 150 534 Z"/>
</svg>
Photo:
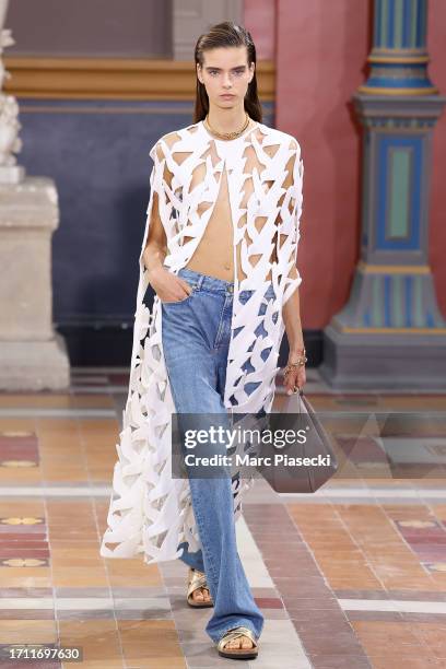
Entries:
<svg viewBox="0 0 446 669">
<path fill-rule="evenodd" d="M 160 298 L 155 295 L 152 313 L 143 303 L 149 285 L 143 251 L 153 196 L 157 193 L 168 244 L 164 265 L 178 273 L 198 248 L 219 195 L 228 195 L 235 272 L 224 404 L 228 411 L 269 412 L 280 368 L 282 308 L 302 282 L 296 262 L 304 175 L 298 142 L 262 124 L 236 140 L 222 141 L 212 138 L 200 121 L 162 137 L 150 155 L 154 167 L 139 258 L 129 392 L 117 444 L 108 528 L 101 545 L 105 558 L 143 553 L 148 564 L 179 558 L 177 547 L 183 541 L 189 542 L 191 551 L 200 548 L 189 483 L 171 476 L 175 404 L 164 362 Z M 225 190 L 220 188 L 222 178 Z M 267 301 L 265 293 L 271 283 L 275 298 Z M 238 294 L 244 290 L 254 293 L 242 303 Z M 259 316 L 263 302 L 266 310 Z M 260 322 L 263 337 L 255 336 Z M 265 349 L 270 349 L 266 361 L 261 359 Z M 246 361 L 249 368 L 243 369 Z M 249 395 L 248 383 L 258 384 Z M 235 518 L 253 482 L 233 481 Z"/>
</svg>

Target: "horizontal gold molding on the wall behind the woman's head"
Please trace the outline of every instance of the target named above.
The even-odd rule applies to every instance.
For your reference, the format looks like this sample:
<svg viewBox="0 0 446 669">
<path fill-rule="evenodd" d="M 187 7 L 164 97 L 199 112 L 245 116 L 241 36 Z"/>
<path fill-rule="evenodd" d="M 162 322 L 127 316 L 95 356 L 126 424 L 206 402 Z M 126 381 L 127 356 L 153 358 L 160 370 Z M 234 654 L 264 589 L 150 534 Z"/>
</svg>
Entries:
<svg viewBox="0 0 446 669">
<path fill-rule="evenodd" d="M 4 57 L 4 91 L 31 98 L 195 99 L 192 61 L 149 58 Z M 274 99 L 273 61 L 257 63 L 259 96 Z"/>
</svg>

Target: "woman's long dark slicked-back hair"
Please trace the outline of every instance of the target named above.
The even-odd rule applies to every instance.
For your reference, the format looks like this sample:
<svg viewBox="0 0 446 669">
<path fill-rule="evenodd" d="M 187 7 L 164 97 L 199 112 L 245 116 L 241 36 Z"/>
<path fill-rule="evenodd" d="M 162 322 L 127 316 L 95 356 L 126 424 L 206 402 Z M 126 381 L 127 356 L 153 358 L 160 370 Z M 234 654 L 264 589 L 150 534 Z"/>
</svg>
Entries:
<svg viewBox="0 0 446 669">
<path fill-rule="evenodd" d="M 218 23 L 216 25 L 213 25 L 208 31 L 208 33 L 203 33 L 198 38 L 195 48 L 196 73 L 198 63 L 203 67 L 203 51 L 207 51 L 208 49 L 215 49 L 218 47 L 232 46 L 246 46 L 248 55 L 248 66 L 250 66 L 251 62 L 254 62 L 256 66 L 256 47 L 254 46 L 250 33 L 248 33 L 246 28 L 244 28 L 242 25 L 238 25 L 237 23 L 233 23 L 232 21 L 224 21 L 223 23 Z M 197 124 L 198 121 L 203 120 L 208 111 L 208 93 L 206 92 L 204 84 L 202 84 L 197 77 L 197 95 L 193 122 Z M 253 80 L 248 84 L 248 90 L 245 95 L 245 111 L 247 111 L 254 120 L 261 122 L 262 111 L 259 96 L 257 93 L 256 69 L 254 71 Z"/>
</svg>

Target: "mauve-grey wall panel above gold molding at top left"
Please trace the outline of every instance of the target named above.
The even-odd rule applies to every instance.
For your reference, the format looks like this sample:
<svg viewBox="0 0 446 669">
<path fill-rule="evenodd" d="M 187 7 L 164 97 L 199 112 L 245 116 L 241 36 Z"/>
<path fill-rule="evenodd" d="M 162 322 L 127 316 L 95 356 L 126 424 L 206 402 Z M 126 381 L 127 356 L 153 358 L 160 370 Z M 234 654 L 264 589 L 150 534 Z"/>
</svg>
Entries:
<svg viewBox="0 0 446 669">
<path fill-rule="evenodd" d="M 10 0 L 8 56 L 168 58 L 171 0 Z"/>
</svg>

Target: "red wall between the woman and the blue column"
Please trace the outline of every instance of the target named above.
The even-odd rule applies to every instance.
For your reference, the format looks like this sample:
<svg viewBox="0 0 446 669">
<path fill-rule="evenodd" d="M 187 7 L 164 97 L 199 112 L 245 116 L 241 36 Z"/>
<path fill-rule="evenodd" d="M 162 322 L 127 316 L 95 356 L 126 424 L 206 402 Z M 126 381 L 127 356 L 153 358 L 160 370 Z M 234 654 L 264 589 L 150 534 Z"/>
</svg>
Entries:
<svg viewBox="0 0 446 669">
<path fill-rule="evenodd" d="M 371 4 L 277 3 L 277 127 L 298 140 L 305 168 L 297 261 L 305 328 L 325 327 L 345 304 L 359 257 L 362 133 L 350 98 L 365 78 Z"/>
</svg>

